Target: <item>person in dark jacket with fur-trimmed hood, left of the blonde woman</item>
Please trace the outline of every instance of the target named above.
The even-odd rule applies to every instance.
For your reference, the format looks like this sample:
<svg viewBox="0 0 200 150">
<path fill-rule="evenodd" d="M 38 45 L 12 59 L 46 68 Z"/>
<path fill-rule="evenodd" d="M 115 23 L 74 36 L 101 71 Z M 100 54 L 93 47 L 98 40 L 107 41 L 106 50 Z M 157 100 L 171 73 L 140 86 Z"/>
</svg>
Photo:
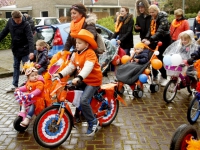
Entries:
<svg viewBox="0 0 200 150">
<path fill-rule="evenodd" d="M 149 3 L 147 0 L 138 0 L 136 6 L 138 16 L 134 30 L 135 32 L 140 32 L 140 38 L 142 40 L 145 38 L 150 27 L 151 16 L 149 15 Z"/>
</svg>

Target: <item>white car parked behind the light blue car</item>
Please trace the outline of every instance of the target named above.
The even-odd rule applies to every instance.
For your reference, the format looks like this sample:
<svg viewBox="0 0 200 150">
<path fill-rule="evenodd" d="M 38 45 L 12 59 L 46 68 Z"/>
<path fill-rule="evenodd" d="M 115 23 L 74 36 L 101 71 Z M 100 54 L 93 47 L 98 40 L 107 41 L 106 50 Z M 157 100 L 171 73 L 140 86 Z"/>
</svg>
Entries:
<svg viewBox="0 0 200 150">
<path fill-rule="evenodd" d="M 56 17 L 34 17 L 35 26 L 60 24 Z"/>
</svg>

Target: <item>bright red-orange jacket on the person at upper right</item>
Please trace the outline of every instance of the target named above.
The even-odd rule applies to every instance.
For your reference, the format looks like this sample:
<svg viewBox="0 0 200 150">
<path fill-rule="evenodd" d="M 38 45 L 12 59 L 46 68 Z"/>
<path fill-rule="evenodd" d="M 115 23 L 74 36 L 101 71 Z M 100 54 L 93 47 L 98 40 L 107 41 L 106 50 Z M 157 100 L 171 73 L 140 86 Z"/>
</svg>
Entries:
<svg viewBox="0 0 200 150">
<path fill-rule="evenodd" d="M 175 19 L 174 19 L 175 20 Z M 174 21 L 173 20 L 173 21 Z M 179 25 L 177 28 L 174 27 L 172 24 L 170 26 L 170 35 L 171 35 L 171 38 L 172 40 L 176 41 L 178 39 L 178 35 L 183 32 L 183 31 L 186 31 L 186 30 L 189 30 L 190 29 L 190 26 L 189 26 L 189 23 L 187 20 L 181 20 L 183 21 L 181 23 L 181 25 Z"/>
</svg>

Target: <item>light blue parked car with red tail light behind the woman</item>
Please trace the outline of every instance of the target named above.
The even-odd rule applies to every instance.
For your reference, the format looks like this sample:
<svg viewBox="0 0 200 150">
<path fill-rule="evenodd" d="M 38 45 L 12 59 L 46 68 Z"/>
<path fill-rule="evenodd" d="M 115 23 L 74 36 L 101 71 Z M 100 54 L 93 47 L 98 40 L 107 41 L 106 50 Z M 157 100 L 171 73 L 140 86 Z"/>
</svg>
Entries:
<svg viewBox="0 0 200 150">
<path fill-rule="evenodd" d="M 100 30 L 100 34 L 103 38 L 111 39 L 113 32 L 109 29 L 96 24 L 96 28 Z M 64 49 L 64 44 L 67 40 L 67 37 L 70 32 L 70 23 L 64 23 L 64 24 L 57 24 L 57 25 L 51 25 L 51 26 L 37 26 L 36 27 L 36 34 L 34 35 L 35 42 L 38 39 L 42 39 L 45 42 L 47 42 L 51 49 L 49 50 L 49 57 L 51 58 L 54 54 L 56 54 L 58 51 L 61 51 Z M 73 48 L 71 48 L 72 50 Z"/>
</svg>

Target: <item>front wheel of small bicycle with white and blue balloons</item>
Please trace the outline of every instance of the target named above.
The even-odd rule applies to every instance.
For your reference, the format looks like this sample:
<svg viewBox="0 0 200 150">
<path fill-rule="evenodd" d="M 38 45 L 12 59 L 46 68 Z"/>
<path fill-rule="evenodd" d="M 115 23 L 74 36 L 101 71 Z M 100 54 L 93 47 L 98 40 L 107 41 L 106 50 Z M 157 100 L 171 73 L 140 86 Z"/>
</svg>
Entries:
<svg viewBox="0 0 200 150">
<path fill-rule="evenodd" d="M 167 85 L 165 86 L 164 92 L 163 92 L 163 99 L 165 102 L 170 103 L 177 93 L 177 87 L 176 87 L 175 80 L 170 80 Z"/>
</svg>

